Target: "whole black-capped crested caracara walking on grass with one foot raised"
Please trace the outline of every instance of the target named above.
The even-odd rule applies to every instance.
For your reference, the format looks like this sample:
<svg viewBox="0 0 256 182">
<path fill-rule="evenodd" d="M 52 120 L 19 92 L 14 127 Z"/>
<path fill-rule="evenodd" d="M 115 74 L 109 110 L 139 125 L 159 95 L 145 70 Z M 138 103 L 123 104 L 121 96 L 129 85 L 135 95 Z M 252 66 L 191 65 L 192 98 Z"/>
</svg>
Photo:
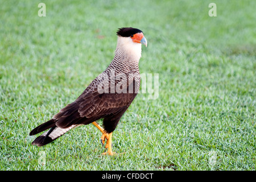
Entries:
<svg viewBox="0 0 256 182">
<path fill-rule="evenodd" d="M 47 131 L 31 144 L 44 146 L 75 127 L 92 123 L 102 133 L 101 144 L 105 144 L 105 152 L 102 154 L 117 154 L 112 150 L 112 135 L 139 91 L 142 44 L 147 47 L 147 40 L 141 30 L 133 27 L 118 28 L 117 47 L 109 66 L 75 101 L 60 109 L 49 121 L 35 127 L 30 136 Z M 103 126 L 97 122 L 99 119 L 103 120 Z"/>
</svg>

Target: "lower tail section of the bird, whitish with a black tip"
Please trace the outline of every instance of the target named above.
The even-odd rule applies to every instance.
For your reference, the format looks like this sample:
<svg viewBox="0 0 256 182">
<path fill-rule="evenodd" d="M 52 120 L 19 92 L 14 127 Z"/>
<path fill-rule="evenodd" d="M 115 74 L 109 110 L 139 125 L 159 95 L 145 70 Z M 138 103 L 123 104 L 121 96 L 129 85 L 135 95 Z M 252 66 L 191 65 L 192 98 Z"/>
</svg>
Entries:
<svg viewBox="0 0 256 182">
<path fill-rule="evenodd" d="M 72 126 L 68 127 L 67 129 L 61 129 L 60 127 L 54 126 L 49 131 L 46 131 L 45 133 L 40 135 L 38 138 L 36 138 L 32 142 L 32 144 L 39 146 L 39 147 L 44 146 L 44 145 L 52 142 L 53 140 L 56 140 L 61 135 L 67 133 L 69 130 L 71 130 L 73 127 L 76 127 L 76 126 L 78 126 L 78 125 L 72 125 Z"/>
</svg>

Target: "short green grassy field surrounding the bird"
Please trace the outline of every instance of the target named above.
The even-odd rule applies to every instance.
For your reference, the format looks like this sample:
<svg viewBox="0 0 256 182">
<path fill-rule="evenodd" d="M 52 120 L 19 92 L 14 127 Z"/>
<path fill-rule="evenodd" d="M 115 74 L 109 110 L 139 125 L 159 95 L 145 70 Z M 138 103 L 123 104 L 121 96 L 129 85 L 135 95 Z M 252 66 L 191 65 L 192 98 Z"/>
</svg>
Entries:
<svg viewBox="0 0 256 182">
<path fill-rule="evenodd" d="M 1 1 L 1 170 L 255 170 L 256 1 Z M 210 17 L 209 3 L 217 5 Z M 102 156 L 93 125 L 44 147 L 28 133 L 109 65 L 120 27 L 144 32 L 138 94 Z M 40 164 L 39 154 L 46 164 Z"/>
</svg>

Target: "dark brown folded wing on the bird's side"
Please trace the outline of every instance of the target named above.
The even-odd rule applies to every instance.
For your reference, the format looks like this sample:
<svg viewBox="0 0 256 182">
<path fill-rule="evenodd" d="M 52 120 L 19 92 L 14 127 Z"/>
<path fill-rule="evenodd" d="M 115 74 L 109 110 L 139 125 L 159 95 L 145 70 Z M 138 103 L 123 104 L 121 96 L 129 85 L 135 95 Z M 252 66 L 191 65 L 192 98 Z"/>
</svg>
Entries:
<svg viewBox="0 0 256 182">
<path fill-rule="evenodd" d="M 53 117 L 56 119 L 56 126 L 69 127 L 75 124 L 89 124 L 108 115 L 125 113 L 137 95 L 135 89 L 133 89 L 133 93 L 129 93 L 130 86 L 135 88 L 135 84 L 138 85 L 138 82 L 133 80 L 132 84 L 122 88 L 122 90 L 127 90 L 126 93 L 124 91 L 101 93 L 98 92 L 98 87 L 92 86 L 94 85 L 92 82 L 75 102 L 61 109 L 60 113 Z M 110 91 L 110 88 L 108 89 Z"/>
</svg>

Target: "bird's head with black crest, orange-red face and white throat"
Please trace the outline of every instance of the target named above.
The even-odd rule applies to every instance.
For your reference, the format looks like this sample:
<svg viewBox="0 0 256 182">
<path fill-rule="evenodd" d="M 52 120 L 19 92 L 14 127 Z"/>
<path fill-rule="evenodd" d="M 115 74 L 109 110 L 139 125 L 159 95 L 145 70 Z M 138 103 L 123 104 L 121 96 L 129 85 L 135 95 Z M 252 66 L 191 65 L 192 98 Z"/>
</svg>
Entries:
<svg viewBox="0 0 256 182">
<path fill-rule="evenodd" d="M 141 44 L 147 47 L 147 40 L 141 30 L 132 27 L 119 28 L 117 35 L 117 49 L 141 57 Z"/>
</svg>

